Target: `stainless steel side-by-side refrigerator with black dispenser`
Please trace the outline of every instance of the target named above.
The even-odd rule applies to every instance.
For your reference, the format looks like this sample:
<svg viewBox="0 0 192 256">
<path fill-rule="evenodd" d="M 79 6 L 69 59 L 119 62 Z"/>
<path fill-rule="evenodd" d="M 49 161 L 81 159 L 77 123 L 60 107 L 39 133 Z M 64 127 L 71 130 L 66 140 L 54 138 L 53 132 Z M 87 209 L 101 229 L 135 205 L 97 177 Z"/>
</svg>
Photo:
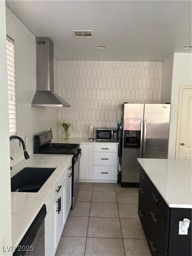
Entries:
<svg viewBox="0 0 192 256">
<path fill-rule="evenodd" d="M 119 134 L 121 184 L 139 182 L 137 158 L 167 158 L 170 104 L 122 104 Z"/>
</svg>

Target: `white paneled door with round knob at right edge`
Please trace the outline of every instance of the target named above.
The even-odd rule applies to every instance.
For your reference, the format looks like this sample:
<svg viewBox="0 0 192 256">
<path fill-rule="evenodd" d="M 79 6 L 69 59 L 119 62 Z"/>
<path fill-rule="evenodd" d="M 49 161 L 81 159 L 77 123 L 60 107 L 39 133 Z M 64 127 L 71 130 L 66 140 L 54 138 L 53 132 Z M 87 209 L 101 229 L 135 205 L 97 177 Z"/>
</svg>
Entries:
<svg viewBox="0 0 192 256">
<path fill-rule="evenodd" d="M 179 159 L 192 159 L 192 89 L 183 89 L 179 135 Z"/>
</svg>

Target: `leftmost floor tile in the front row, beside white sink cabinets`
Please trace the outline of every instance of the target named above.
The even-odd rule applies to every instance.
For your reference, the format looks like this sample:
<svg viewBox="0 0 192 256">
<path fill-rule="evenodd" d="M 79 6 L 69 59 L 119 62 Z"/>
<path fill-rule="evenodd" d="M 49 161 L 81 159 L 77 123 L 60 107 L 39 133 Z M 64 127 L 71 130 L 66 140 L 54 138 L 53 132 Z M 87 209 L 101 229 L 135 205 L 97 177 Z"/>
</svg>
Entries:
<svg viewBox="0 0 192 256">
<path fill-rule="evenodd" d="M 62 236 L 55 256 L 84 256 L 86 237 Z"/>
</svg>

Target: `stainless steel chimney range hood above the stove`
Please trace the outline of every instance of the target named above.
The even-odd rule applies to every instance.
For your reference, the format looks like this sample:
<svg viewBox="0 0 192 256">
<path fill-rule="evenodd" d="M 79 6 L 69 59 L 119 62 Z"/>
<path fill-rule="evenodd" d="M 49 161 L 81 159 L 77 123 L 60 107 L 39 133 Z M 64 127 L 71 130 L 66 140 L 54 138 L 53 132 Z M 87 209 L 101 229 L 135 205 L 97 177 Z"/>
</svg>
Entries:
<svg viewBox="0 0 192 256">
<path fill-rule="evenodd" d="M 71 107 L 54 92 L 53 42 L 36 37 L 37 90 L 32 107 Z"/>
</svg>

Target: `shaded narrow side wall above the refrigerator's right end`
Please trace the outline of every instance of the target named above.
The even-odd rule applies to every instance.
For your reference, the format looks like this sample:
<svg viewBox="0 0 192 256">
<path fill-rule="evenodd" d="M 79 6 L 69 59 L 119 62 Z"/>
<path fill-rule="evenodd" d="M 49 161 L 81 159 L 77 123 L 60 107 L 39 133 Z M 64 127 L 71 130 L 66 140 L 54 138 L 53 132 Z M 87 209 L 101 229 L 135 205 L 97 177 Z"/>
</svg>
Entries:
<svg viewBox="0 0 192 256">
<path fill-rule="evenodd" d="M 171 86 L 173 76 L 173 57 L 170 55 L 163 61 L 163 74 L 162 74 L 162 86 L 161 86 L 161 103 L 171 102 Z"/>
</svg>

